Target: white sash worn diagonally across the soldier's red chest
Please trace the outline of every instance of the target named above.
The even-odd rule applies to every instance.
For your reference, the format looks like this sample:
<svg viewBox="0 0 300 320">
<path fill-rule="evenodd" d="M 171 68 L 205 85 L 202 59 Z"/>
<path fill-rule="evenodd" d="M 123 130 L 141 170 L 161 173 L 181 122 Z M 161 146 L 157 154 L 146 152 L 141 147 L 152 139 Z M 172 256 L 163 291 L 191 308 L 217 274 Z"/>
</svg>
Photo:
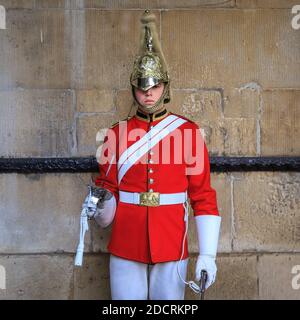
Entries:
<svg viewBox="0 0 300 320">
<path fill-rule="evenodd" d="M 126 172 L 136 161 L 186 121 L 175 115 L 169 115 L 148 131 L 140 140 L 125 150 L 118 161 L 118 184 L 120 184 Z"/>
</svg>

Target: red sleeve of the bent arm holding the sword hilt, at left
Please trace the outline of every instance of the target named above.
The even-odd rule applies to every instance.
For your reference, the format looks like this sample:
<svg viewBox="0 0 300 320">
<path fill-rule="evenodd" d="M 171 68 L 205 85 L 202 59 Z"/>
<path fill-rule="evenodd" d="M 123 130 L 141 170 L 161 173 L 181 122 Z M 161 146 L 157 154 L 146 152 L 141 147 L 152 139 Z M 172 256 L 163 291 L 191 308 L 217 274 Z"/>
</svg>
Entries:
<svg viewBox="0 0 300 320">
<path fill-rule="evenodd" d="M 109 129 L 110 130 L 110 129 Z M 108 131 L 109 132 L 109 131 Z M 110 133 L 113 130 L 110 131 Z M 111 191 L 119 200 L 116 143 L 113 135 L 106 134 L 98 160 L 99 175 L 95 178 L 95 185 Z"/>
</svg>

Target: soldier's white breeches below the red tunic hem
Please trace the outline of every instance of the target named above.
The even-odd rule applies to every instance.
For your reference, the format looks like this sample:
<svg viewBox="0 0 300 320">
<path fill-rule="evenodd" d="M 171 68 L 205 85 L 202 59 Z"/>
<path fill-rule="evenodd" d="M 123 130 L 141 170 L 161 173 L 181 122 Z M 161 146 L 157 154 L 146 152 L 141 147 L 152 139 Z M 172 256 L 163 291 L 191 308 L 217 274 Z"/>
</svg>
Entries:
<svg viewBox="0 0 300 320">
<path fill-rule="evenodd" d="M 187 265 L 188 258 L 179 265 L 184 280 Z M 184 299 L 185 284 L 178 276 L 177 261 L 148 265 L 111 254 L 109 268 L 112 300 Z"/>
</svg>

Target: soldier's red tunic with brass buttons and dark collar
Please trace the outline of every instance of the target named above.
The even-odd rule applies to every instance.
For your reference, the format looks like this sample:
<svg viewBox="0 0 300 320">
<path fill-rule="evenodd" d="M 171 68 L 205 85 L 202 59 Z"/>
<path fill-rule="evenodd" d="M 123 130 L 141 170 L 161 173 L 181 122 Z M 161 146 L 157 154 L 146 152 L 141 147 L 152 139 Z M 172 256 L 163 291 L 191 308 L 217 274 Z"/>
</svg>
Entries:
<svg viewBox="0 0 300 320">
<path fill-rule="evenodd" d="M 186 150 L 189 153 L 192 152 L 190 156 L 195 155 L 196 135 L 199 137 L 200 134 L 198 125 L 181 115 L 171 112 L 166 114 L 166 116 L 168 115 L 176 115 L 187 120 L 177 130 L 182 132 L 182 137 L 185 129 L 189 129 L 188 131 L 192 132 L 192 139 L 188 139 L 189 146 L 186 146 Z M 143 132 L 146 134 L 151 129 L 151 126 L 155 126 L 164 118 L 147 122 L 134 115 L 129 120 L 126 120 L 126 130 L 122 129 L 120 123 L 115 125 L 112 130 L 116 134 L 117 150 L 115 152 L 112 147 L 109 147 L 111 148 L 111 154 L 115 154 L 115 159 L 118 161 L 123 152 L 122 149 L 119 151 L 120 145 L 126 142 L 127 146 L 130 147 L 140 138 L 137 137 L 134 141 L 131 141 L 129 133 L 132 129 L 143 129 L 141 130 L 141 135 L 143 135 Z M 120 130 L 122 130 L 121 138 L 119 137 Z M 133 164 L 119 185 L 117 161 L 113 161 L 111 164 L 108 162 L 99 164 L 100 175 L 96 178 L 95 184 L 113 192 L 117 200 L 116 214 L 108 244 L 108 251 L 116 256 L 150 264 L 179 260 L 185 232 L 184 207 L 182 204 L 160 205 L 157 207 L 128 204 L 119 201 L 119 190 L 160 193 L 187 191 L 195 216 L 219 215 L 216 192 L 210 184 L 210 164 L 204 141 L 202 140 L 203 148 L 201 149 L 203 170 L 197 174 L 187 174 L 187 168 L 196 168 L 199 164 L 196 161 L 192 163 L 191 160 L 187 161 L 184 156 L 182 156 L 183 161 L 181 163 L 177 161 L 176 159 L 178 158 L 176 156 L 178 156 L 178 153 L 183 155 L 187 142 L 182 139 L 180 150 L 180 148 L 178 149 L 178 144 L 175 146 L 175 139 L 169 139 L 169 148 L 165 148 L 165 146 L 163 148 L 162 143 L 167 137 L 157 143 L 152 150 L 149 150 L 144 155 L 144 158 L 141 158 L 145 160 L 144 162 L 137 161 Z M 104 143 L 107 145 L 108 142 L 108 136 L 106 135 Z M 106 151 L 103 148 L 102 156 L 107 156 L 108 154 L 107 148 Z M 169 155 L 169 163 L 163 162 L 163 155 Z M 111 157 L 108 158 L 111 159 Z M 148 163 L 147 159 L 154 159 L 155 161 L 154 163 Z M 192 157 L 188 159 L 192 159 Z M 183 259 L 188 257 L 187 240 L 185 241 L 184 251 Z"/>
</svg>

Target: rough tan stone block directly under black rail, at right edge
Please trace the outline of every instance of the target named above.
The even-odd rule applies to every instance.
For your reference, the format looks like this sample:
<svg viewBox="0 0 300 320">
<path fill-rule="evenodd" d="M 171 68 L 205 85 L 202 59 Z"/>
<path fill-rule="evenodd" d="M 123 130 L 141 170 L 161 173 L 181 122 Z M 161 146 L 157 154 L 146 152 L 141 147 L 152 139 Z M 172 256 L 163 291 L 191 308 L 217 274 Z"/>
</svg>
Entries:
<svg viewBox="0 0 300 320">
<path fill-rule="evenodd" d="M 248 172 L 234 177 L 234 250 L 298 250 L 299 173 Z"/>
</svg>

